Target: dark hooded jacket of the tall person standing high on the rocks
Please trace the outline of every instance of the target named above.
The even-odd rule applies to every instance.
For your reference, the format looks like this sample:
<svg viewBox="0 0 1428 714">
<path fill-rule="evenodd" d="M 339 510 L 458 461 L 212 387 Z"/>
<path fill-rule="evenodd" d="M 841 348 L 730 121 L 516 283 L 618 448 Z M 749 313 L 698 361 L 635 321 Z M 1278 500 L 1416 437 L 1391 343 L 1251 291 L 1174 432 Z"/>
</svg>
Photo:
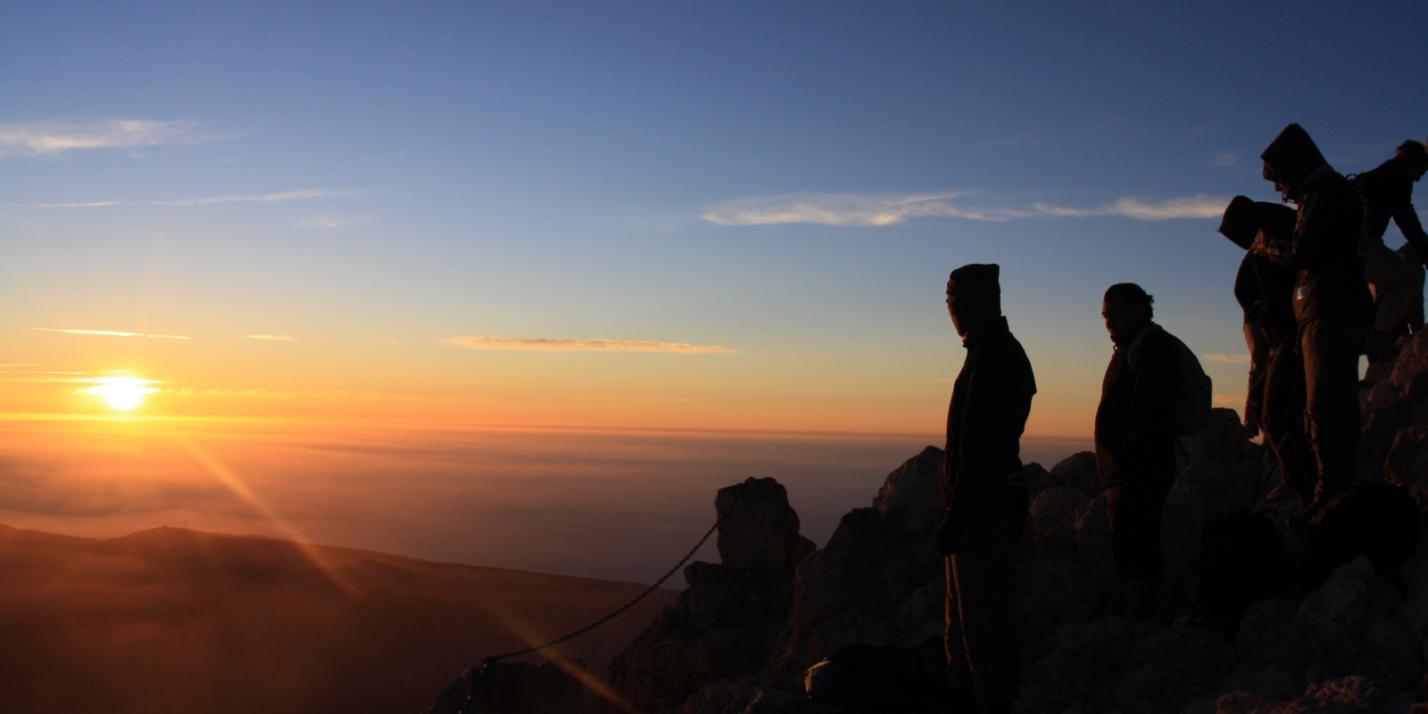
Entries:
<svg viewBox="0 0 1428 714">
<path fill-rule="evenodd" d="M 1298 124 L 1285 127 L 1261 159 L 1298 204 L 1289 260 L 1297 271 L 1294 314 L 1299 324 L 1367 323 L 1374 300 L 1359 253 L 1364 207 L 1358 191 Z"/>
</svg>

